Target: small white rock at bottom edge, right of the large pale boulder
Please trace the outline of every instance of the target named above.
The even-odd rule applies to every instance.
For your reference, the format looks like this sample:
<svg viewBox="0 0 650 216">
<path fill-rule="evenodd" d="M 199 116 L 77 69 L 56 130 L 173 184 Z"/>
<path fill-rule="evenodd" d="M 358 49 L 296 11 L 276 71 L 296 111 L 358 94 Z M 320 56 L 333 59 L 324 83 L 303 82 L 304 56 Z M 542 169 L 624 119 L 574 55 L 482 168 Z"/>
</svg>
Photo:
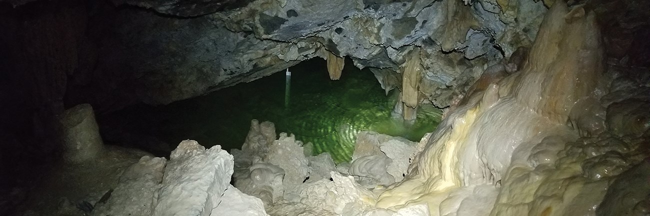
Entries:
<svg viewBox="0 0 650 216">
<path fill-rule="evenodd" d="M 267 215 L 262 200 L 246 195 L 236 187 L 228 186 L 221 203 L 212 210 L 210 216 L 239 215 L 259 216 Z"/>
</svg>

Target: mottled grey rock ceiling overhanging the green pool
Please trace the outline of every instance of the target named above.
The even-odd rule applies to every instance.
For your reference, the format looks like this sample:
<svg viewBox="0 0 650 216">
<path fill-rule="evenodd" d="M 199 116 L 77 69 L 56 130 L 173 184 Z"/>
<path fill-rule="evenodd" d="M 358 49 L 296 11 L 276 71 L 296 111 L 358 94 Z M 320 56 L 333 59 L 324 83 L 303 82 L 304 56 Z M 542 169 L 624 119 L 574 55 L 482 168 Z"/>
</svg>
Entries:
<svg viewBox="0 0 650 216">
<path fill-rule="evenodd" d="M 446 107 L 484 67 L 528 46 L 547 10 L 541 2 L 521 1 L 513 16 L 526 16 L 513 22 L 500 17 L 495 1 L 253 1 L 196 12 L 203 16 L 125 3 L 94 6 L 88 31 L 96 64 L 68 85 L 68 104 L 90 102 L 99 112 L 136 102 L 167 104 L 330 54 L 384 69 L 382 86 L 401 88 L 400 80 L 387 77 L 401 77 L 406 54 L 422 47 L 425 102 Z M 143 4 L 153 10 L 128 6 Z"/>
</svg>

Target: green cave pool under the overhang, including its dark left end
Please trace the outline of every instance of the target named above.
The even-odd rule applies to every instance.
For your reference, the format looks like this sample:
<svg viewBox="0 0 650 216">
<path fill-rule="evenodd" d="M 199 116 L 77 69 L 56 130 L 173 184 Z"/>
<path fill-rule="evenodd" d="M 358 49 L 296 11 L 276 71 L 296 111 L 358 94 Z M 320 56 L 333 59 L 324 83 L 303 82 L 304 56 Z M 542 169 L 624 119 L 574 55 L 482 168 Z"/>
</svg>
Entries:
<svg viewBox="0 0 650 216">
<path fill-rule="evenodd" d="M 250 121 L 271 121 L 276 132 L 294 134 L 313 144 L 313 154 L 329 152 L 347 162 L 356 134 L 373 130 L 419 141 L 441 120 L 430 104 L 419 108 L 417 121 L 404 124 L 391 115 L 398 90 L 388 94 L 369 69 L 346 59 L 340 80 L 330 80 L 326 62 L 313 58 L 290 67 L 291 102 L 285 108 L 285 71 L 240 83 L 201 97 L 162 106 L 136 105 L 98 116 L 106 143 L 127 145 L 166 156 L 184 139 L 201 145 L 240 149 Z"/>
</svg>

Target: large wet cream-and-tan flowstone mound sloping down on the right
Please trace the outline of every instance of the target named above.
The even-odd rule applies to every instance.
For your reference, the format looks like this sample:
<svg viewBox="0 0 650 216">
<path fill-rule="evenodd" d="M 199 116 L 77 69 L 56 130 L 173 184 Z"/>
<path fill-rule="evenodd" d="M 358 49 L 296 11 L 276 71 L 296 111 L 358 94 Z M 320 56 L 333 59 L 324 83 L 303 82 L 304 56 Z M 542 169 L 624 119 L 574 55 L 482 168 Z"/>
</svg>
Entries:
<svg viewBox="0 0 650 216">
<path fill-rule="evenodd" d="M 636 111 L 643 102 L 625 111 L 610 104 L 610 129 L 625 129 L 604 132 L 599 38 L 593 12 L 555 2 L 521 70 L 467 95 L 377 206 L 424 202 L 432 215 L 593 215 L 608 181 L 647 157 L 643 138 L 620 137 L 642 136 L 643 126 L 619 119 L 644 119 Z M 475 197 L 495 204 L 463 205 Z"/>
</svg>

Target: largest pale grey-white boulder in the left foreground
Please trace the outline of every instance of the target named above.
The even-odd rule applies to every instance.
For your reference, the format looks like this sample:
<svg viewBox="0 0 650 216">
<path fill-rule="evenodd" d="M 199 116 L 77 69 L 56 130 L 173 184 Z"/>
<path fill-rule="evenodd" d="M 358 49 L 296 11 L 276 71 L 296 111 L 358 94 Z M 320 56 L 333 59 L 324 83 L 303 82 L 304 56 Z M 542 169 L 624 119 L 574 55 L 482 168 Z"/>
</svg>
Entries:
<svg viewBox="0 0 650 216">
<path fill-rule="evenodd" d="M 210 149 L 182 141 L 164 169 L 153 215 L 208 216 L 221 202 L 233 174 L 233 156 L 219 145 Z"/>
</svg>

